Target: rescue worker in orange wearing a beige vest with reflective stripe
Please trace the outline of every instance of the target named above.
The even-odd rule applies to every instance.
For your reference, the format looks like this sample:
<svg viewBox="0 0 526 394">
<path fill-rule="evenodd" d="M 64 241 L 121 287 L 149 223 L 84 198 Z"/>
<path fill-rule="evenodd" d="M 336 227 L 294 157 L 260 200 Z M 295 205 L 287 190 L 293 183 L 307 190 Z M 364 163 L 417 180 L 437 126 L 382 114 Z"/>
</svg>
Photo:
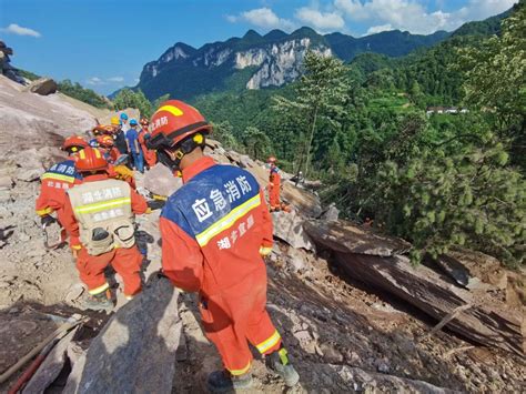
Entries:
<svg viewBox="0 0 526 394">
<path fill-rule="evenodd" d="M 111 309 L 104 269 L 112 265 L 124 282 L 124 295 L 141 291 L 142 255 L 135 245 L 134 213 L 148 205 L 127 182 L 108 176 L 108 162 L 98 149 L 87 148 L 75 160 L 83 183 L 68 191 L 64 225 L 78 242 L 77 269 L 92 299 L 87 307 Z"/>
</svg>

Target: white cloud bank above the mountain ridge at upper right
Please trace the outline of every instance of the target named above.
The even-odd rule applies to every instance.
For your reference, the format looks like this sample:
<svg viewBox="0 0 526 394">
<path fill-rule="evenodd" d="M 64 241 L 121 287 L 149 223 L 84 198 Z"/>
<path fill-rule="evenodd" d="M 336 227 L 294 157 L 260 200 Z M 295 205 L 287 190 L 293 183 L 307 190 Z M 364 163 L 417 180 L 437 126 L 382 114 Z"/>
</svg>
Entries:
<svg viewBox="0 0 526 394">
<path fill-rule="evenodd" d="M 437 30 L 455 30 L 471 20 L 482 20 L 509 9 L 517 0 L 469 0 L 455 11 L 427 12 L 417 0 L 334 0 L 334 7 L 347 20 L 371 22 L 371 31 L 386 27 L 428 34 Z"/>
</svg>

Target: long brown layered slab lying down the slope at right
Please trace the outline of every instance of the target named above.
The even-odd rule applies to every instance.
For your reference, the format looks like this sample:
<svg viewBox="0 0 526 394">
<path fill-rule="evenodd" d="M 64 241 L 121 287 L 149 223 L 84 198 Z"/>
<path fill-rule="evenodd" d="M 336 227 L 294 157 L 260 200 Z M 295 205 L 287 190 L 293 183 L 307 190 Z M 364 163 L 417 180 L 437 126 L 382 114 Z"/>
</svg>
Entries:
<svg viewBox="0 0 526 394">
<path fill-rule="evenodd" d="M 451 331 L 524 356 L 526 323 L 520 310 L 512 310 L 487 294 L 459 289 L 429 267 L 413 266 L 407 257 L 396 254 L 397 240 L 367 234 L 344 221 L 313 221 L 304 226 L 316 244 L 333 252 L 350 276 L 405 300 L 437 321 L 453 314 L 445 323 Z M 380 245 L 371 243 L 376 239 L 382 240 Z"/>
</svg>

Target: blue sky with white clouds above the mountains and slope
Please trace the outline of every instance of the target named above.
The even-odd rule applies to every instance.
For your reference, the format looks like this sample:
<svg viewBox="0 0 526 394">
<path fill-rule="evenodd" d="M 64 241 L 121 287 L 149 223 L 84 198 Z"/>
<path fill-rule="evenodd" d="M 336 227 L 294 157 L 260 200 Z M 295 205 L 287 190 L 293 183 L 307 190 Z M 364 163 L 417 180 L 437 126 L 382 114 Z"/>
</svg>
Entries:
<svg viewBox="0 0 526 394">
<path fill-rule="evenodd" d="M 452 31 L 517 0 L 0 0 L 0 40 L 14 67 L 108 94 L 135 85 L 175 42 L 199 48 L 249 29 L 362 37 L 384 30 Z"/>
</svg>

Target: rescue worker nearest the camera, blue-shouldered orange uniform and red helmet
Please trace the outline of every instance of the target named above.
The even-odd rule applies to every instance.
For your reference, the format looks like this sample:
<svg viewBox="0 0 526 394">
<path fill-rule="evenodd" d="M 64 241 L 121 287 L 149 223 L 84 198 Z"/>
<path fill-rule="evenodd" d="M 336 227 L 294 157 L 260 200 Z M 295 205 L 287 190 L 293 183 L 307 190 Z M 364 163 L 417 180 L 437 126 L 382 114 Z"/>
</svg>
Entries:
<svg viewBox="0 0 526 394">
<path fill-rule="evenodd" d="M 160 218 L 163 273 L 188 292 L 199 292 L 203 327 L 224 371 L 208 378 L 212 392 L 252 385 L 249 343 L 287 386 L 299 381 L 281 335 L 266 312 L 266 269 L 272 220 L 254 176 L 203 155 L 211 125 L 194 108 L 164 102 L 152 117 L 150 148 L 180 174 Z"/>
</svg>

